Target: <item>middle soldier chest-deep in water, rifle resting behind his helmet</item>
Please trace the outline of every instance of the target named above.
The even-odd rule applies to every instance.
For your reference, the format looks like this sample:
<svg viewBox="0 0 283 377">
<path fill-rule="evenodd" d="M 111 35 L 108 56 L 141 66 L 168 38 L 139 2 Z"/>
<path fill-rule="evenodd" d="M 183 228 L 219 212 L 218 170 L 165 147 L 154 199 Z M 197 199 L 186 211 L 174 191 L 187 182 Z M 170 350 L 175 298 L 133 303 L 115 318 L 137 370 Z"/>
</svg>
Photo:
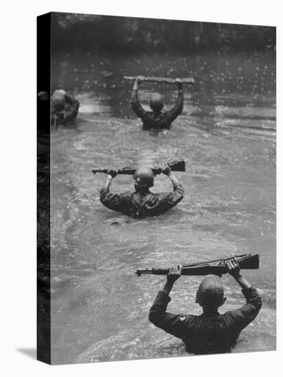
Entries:
<svg viewBox="0 0 283 377">
<path fill-rule="evenodd" d="M 177 180 L 168 164 L 160 165 L 162 173 L 168 175 L 173 183 L 172 192 L 151 193 L 153 186 L 153 171 L 147 167 L 140 167 L 134 174 L 134 193 L 110 193 L 112 179 L 119 169 L 109 170 L 100 191 L 100 201 L 103 206 L 122 212 L 134 218 L 153 217 L 162 215 L 179 203 L 184 195 L 182 184 Z"/>
</svg>

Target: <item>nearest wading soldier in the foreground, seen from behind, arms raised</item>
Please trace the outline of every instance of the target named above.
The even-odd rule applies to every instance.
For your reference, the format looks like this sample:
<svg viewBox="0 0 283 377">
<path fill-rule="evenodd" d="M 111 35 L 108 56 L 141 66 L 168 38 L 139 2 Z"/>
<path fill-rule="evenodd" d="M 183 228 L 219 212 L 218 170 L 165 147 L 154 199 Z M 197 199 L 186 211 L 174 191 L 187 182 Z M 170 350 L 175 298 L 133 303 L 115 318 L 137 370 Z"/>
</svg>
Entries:
<svg viewBox="0 0 283 377">
<path fill-rule="evenodd" d="M 174 282 L 182 275 L 182 266 L 171 268 L 167 282 L 160 291 L 149 312 L 149 321 L 169 332 L 186 344 L 186 351 L 193 354 L 219 354 L 231 352 L 243 328 L 258 315 L 262 306 L 260 295 L 242 276 L 235 258 L 226 260 L 227 272 L 242 288 L 246 304 L 236 310 L 219 314 L 218 308 L 226 300 L 221 281 L 205 278 L 197 290 L 196 302 L 202 307 L 201 315 L 175 315 L 168 313 L 169 293 Z"/>
</svg>

